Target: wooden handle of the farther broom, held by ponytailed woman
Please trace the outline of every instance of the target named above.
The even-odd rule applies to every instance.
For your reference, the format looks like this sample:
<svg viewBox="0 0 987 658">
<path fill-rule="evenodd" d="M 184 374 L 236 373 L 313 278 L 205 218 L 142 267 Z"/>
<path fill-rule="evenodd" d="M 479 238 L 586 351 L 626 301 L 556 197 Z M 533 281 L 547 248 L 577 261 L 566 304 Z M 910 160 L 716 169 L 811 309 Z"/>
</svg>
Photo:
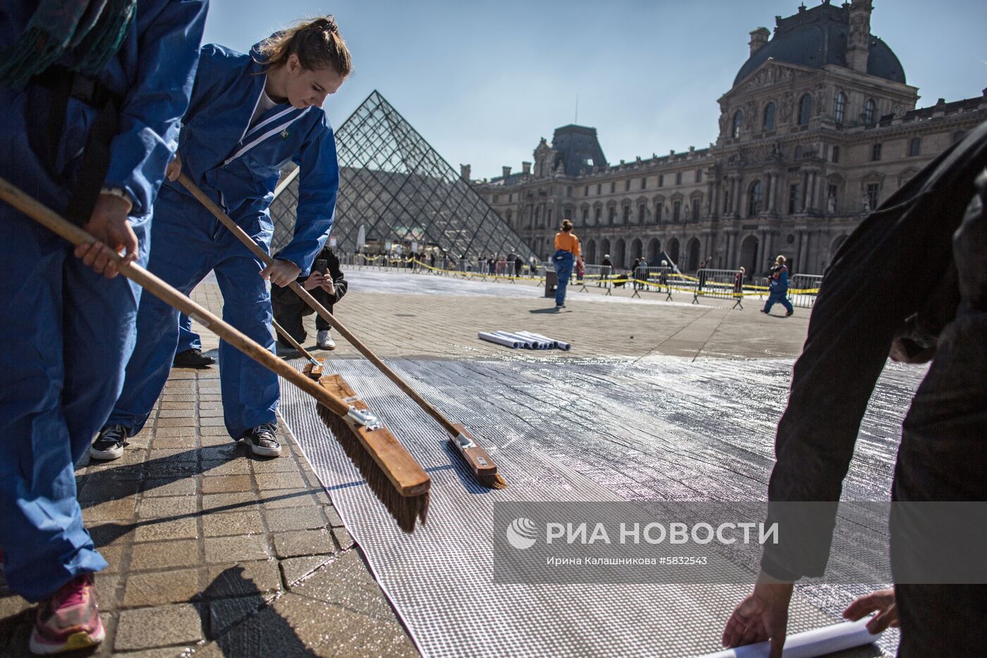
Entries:
<svg viewBox="0 0 987 658">
<path fill-rule="evenodd" d="M 239 238 L 240 241 L 244 243 L 244 246 L 250 249 L 251 253 L 257 256 L 262 263 L 264 263 L 265 265 L 270 265 L 271 263 L 274 262 L 274 259 L 268 256 L 264 249 L 261 249 L 261 247 L 254 240 L 254 238 L 249 236 L 247 234 L 247 231 L 240 228 L 237 222 L 233 221 L 233 219 L 231 219 L 229 215 L 223 212 L 222 208 L 216 206 L 213 203 L 213 201 L 209 199 L 208 196 L 206 196 L 204 192 L 199 190 L 198 186 L 192 183 L 189 176 L 187 176 L 184 172 L 181 175 L 179 175 L 179 183 L 181 183 L 185 187 L 185 189 L 191 193 L 191 196 L 197 199 L 199 203 L 202 204 L 202 206 L 205 206 L 206 209 L 212 212 L 212 214 L 215 215 L 216 219 L 219 219 L 221 222 L 223 222 L 223 225 L 229 228 L 233 232 L 233 234 L 236 235 L 237 238 Z M 350 345 L 356 348 L 357 352 L 359 352 L 364 357 L 366 357 L 374 366 L 377 367 L 377 370 L 380 370 L 381 372 L 386 374 L 388 379 L 390 379 L 391 381 L 393 381 L 398 385 L 398 388 L 403 390 L 410 398 L 415 400 L 418 406 L 421 407 L 421 409 L 424 410 L 425 413 L 427 413 L 429 416 L 434 418 L 436 421 L 438 421 L 438 423 L 442 427 L 445 428 L 446 432 L 448 432 L 454 437 L 459 434 L 459 430 L 456 429 L 456 426 L 453 425 L 452 421 L 450 421 L 448 418 L 442 415 L 442 412 L 440 412 L 438 409 L 436 409 L 431 404 L 429 404 L 428 400 L 421 397 L 421 395 L 418 394 L 417 390 L 412 388 L 412 386 L 408 382 L 406 382 L 404 379 L 401 378 L 400 374 L 398 374 L 394 370 L 391 370 L 391 368 L 387 364 L 385 364 L 383 361 L 381 361 L 381 359 L 377 355 L 371 352 L 370 348 L 364 345 L 363 342 L 360 341 L 360 339 L 358 339 L 356 336 L 352 334 L 352 332 L 346 329 L 346 327 L 342 324 L 342 322 L 337 320 L 336 316 L 330 313 L 329 309 L 327 309 L 325 306 L 319 303 L 319 300 L 313 297 L 308 290 L 299 286 L 298 282 L 296 281 L 291 282 L 288 285 L 288 288 L 291 288 L 292 290 L 297 292 L 298 296 L 304 299 L 305 303 L 307 303 L 310 307 L 312 307 L 315 310 L 315 312 L 318 313 L 320 317 L 322 317 L 322 319 L 326 320 L 326 322 L 329 322 L 331 325 L 333 325 L 333 327 L 340 332 L 342 337 L 345 338 Z"/>
</svg>

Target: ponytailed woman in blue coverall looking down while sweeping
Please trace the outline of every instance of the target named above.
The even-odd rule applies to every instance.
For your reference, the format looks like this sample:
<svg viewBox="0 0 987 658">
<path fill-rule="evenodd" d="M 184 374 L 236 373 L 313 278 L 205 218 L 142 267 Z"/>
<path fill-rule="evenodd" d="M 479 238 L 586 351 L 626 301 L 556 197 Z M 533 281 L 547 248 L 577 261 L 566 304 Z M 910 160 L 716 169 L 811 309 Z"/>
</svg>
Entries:
<svg viewBox="0 0 987 658">
<path fill-rule="evenodd" d="M 350 67 L 332 17 L 272 35 L 250 54 L 202 46 L 179 157 L 169 166 L 170 182 L 155 206 L 150 271 L 186 293 L 215 271 L 223 319 L 271 351 L 266 280 L 284 287 L 308 274 L 333 225 L 340 172 L 322 104 Z M 294 237 L 266 268 L 184 187 L 171 182 L 180 170 L 188 174 L 269 253 L 268 208 L 280 170 L 290 161 L 301 167 Z M 175 357 L 178 317 L 154 297 L 141 300 L 137 346 L 110 420 L 90 450 L 94 458 L 118 457 L 126 439 L 147 422 Z M 230 437 L 255 454 L 280 454 L 274 436 L 277 376 L 225 341 L 219 369 Z"/>
</svg>

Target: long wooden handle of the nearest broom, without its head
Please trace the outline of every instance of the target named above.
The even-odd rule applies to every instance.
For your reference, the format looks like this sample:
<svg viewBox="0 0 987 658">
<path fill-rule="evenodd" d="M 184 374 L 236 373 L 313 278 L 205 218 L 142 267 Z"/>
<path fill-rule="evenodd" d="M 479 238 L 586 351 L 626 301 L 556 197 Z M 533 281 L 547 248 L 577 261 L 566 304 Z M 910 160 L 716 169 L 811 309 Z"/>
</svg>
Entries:
<svg viewBox="0 0 987 658">
<path fill-rule="evenodd" d="M 39 224 L 48 227 L 74 245 L 89 244 L 98 241 L 90 233 L 70 223 L 49 207 L 38 203 L 38 201 L 26 195 L 3 178 L 0 178 L 0 199 L 16 207 Z M 264 366 L 267 370 L 273 370 L 306 393 L 309 393 L 333 413 L 338 416 L 345 416 L 346 412 L 349 411 L 349 405 L 343 402 L 342 398 L 333 395 L 316 381 L 305 376 L 298 370 L 291 368 L 288 364 L 265 350 L 259 343 L 251 340 L 246 334 L 223 322 L 199 306 L 187 295 L 172 288 L 139 265 L 132 263 L 124 264 L 123 259 L 118 254 L 114 254 L 114 260 L 116 261 L 116 269 L 121 275 L 136 282 L 141 288 L 151 292 L 169 306 L 177 308 L 189 317 L 198 320 L 214 333 L 218 334 L 224 341 Z"/>
</svg>

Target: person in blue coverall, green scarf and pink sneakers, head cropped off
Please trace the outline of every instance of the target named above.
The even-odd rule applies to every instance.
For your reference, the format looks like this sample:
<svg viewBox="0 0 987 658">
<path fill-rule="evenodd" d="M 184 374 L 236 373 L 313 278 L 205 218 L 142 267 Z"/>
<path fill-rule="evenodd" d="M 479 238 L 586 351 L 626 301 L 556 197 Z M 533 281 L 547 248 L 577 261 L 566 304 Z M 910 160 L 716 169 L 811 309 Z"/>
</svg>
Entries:
<svg viewBox="0 0 987 658">
<path fill-rule="evenodd" d="M 206 12 L 205 0 L 105 5 L 0 4 L 0 176 L 104 243 L 76 249 L 80 261 L 0 203 L 0 280 L 12 284 L 0 296 L 0 552 L 10 588 L 39 602 L 30 642 L 42 654 L 104 636 L 92 573 L 107 562 L 83 526 L 74 464 L 110 415 L 134 345 L 140 288 L 114 277 L 108 256 L 146 262 Z M 108 117 L 114 127 L 95 138 Z M 91 202 L 73 206 L 86 190 Z"/>
</svg>

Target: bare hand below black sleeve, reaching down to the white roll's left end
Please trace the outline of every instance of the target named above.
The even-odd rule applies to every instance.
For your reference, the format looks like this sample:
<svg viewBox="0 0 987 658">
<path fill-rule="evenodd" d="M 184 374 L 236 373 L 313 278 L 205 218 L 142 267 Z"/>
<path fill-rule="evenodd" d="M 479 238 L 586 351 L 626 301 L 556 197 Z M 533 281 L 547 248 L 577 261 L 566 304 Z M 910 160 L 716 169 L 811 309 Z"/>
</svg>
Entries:
<svg viewBox="0 0 987 658">
<path fill-rule="evenodd" d="M 778 582 L 762 572 L 754 592 L 741 601 L 723 628 L 723 646 L 771 640 L 770 658 L 782 658 L 789 623 L 792 583 Z M 760 582 L 760 581 L 772 582 Z"/>
</svg>

